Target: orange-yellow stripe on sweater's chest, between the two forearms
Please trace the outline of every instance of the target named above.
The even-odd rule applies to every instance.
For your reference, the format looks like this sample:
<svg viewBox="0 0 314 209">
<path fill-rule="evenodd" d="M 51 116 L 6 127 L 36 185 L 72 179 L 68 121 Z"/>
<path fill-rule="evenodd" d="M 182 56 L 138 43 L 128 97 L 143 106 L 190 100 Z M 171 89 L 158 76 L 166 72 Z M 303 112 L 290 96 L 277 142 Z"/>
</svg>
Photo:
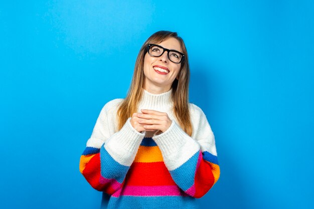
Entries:
<svg viewBox="0 0 314 209">
<path fill-rule="evenodd" d="M 134 162 L 163 162 L 163 155 L 158 146 L 139 146 Z"/>
</svg>

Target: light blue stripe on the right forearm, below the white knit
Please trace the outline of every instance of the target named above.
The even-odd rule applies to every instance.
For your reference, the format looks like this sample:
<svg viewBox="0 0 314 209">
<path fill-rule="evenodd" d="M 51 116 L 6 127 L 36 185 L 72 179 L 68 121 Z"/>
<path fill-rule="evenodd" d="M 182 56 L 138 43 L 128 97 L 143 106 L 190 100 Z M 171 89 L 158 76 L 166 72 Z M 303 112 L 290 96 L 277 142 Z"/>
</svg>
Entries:
<svg viewBox="0 0 314 209">
<path fill-rule="evenodd" d="M 189 189 L 194 184 L 194 176 L 199 154 L 200 151 L 197 151 L 188 161 L 183 163 L 180 167 L 170 171 L 170 174 L 176 184 L 184 191 Z"/>
</svg>

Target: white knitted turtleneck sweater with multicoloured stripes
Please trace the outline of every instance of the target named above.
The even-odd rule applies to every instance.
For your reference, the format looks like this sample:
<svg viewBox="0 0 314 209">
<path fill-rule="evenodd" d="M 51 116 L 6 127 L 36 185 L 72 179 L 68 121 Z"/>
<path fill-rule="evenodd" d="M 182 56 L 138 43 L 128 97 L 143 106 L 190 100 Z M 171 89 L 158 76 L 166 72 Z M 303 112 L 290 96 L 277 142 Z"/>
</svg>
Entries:
<svg viewBox="0 0 314 209">
<path fill-rule="evenodd" d="M 103 191 L 101 208 L 196 208 L 220 175 L 215 138 L 204 112 L 190 103 L 192 137 L 178 125 L 171 99 L 143 91 L 140 109 L 166 112 L 172 124 L 159 135 L 138 132 L 130 118 L 117 131 L 123 99 L 102 108 L 80 158 L 80 172 Z"/>
</svg>

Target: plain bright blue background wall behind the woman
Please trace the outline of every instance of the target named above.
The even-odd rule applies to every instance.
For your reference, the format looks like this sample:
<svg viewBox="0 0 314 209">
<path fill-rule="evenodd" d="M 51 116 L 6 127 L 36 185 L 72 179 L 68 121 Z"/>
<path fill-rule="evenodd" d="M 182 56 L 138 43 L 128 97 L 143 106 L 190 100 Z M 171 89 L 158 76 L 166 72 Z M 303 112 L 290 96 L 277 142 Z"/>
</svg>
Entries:
<svg viewBox="0 0 314 209">
<path fill-rule="evenodd" d="M 184 39 L 221 176 L 203 208 L 313 208 L 313 1 L 2 1 L 1 208 L 98 208 L 79 159 L 154 32 Z"/>
</svg>

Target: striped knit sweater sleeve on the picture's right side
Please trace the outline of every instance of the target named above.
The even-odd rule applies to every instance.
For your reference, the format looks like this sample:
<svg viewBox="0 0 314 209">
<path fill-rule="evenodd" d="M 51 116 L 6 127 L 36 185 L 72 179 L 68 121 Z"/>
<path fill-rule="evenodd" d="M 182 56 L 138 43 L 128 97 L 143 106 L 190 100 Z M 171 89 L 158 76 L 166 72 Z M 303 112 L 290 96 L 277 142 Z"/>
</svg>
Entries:
<svg viewBox="0 0 314 209">
<path fill-rule="evenodd" d="M 153 136 L 164 162 L 176 184 L 188 195 L 200 198 L 220 176 L 215 138 L 204 112 L 193 105 L 193 137 L 172 121 L 167 131 Z M 193 123 L 193 122 L 192 122 Z"/>
</svg>

